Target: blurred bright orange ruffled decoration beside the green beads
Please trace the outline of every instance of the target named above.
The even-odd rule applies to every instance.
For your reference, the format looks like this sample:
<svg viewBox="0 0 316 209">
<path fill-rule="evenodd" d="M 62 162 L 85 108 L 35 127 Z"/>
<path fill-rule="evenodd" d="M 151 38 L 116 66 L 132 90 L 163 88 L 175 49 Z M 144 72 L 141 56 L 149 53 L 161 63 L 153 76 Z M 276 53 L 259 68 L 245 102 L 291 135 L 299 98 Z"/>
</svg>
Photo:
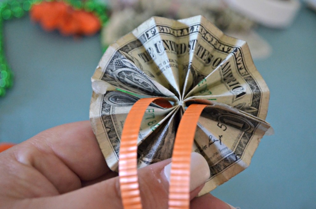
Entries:
<svg viewBox="0 0 316 209">
<path fill-rule="evenodd" d="M 31 19 L 40 22 L 46 31 L 59 30 L 63 35 L 93 35 L 101 28 L 100 20 L 85 10 L 74 9 L 64 2 L 33 4 Z"/>
</svg>

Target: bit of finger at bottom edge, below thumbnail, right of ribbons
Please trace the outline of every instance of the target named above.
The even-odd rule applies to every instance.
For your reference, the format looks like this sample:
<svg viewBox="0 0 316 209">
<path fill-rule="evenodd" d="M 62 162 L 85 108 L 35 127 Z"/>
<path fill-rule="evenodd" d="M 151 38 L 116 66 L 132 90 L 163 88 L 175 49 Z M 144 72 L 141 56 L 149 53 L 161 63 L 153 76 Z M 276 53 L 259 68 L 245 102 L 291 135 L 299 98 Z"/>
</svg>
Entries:
<svg viewBox="0 0 316 209">
<path fill-rule="evenodd" d="M 196 197 L 191 201 L 191 209 L 236 209 L 226 202 L 214 197 L 210 193 Z"/>
</svg>

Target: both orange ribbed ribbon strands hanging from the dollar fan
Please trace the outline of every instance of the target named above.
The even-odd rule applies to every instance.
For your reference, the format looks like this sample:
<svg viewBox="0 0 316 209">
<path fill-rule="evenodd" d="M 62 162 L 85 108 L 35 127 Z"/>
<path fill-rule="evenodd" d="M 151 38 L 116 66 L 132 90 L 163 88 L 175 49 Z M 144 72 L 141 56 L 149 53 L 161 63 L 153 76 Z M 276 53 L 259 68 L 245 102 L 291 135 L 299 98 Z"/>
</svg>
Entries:
<svg viewBox="0 0 316 209">
<path fill-rule="evenodd" d="M 151 102 L 161 98 L 139 99 L 125 120 L 119 153 L 119 181 L 125 209 L 142 209 L 137 176 L 137 139 L 143 115 Z M 190 164 L 197 120 L 207 105 L 193 104 L 185 111 L 176 134 L 169 186 L 169 209 L 190 207 Z"/>
</svg>

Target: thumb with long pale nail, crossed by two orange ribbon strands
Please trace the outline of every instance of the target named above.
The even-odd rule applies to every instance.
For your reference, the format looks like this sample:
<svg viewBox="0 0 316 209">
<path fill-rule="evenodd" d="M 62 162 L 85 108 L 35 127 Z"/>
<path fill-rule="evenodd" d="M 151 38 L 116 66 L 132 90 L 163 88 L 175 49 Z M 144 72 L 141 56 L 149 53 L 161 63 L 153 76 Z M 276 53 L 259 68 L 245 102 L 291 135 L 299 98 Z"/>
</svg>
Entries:
<svg viewBox="0 0 316 209">
<path fill-rule="evenodd" d="M 171 159 L 151 164 L 138 170 L 139 188 L 143 208 L 168 207 L 168 189 Z M 191 199 L 202 189 L 210 177 L 206 160 L 198 153 L 191 154 Z M 119 177 L 93 184 L 55 197 L 34 200 L 33 208 L 123 208 Z"/>
</svg>

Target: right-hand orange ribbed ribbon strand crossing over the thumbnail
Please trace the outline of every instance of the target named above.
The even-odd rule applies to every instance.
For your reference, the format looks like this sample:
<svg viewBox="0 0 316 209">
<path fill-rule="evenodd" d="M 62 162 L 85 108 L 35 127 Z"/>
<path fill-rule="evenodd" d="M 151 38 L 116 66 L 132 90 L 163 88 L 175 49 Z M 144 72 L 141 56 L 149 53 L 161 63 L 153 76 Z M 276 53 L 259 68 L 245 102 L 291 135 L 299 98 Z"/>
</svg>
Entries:
<svg viewBox="0 0 316 209">
<path fill-rule="evenodd" d="M 175 137 L 169 186 L 169 209 L 190 207 L 190 165 L 197 120 L 207 105 L 192 104 L 184 112 Z"/>
</svg>

